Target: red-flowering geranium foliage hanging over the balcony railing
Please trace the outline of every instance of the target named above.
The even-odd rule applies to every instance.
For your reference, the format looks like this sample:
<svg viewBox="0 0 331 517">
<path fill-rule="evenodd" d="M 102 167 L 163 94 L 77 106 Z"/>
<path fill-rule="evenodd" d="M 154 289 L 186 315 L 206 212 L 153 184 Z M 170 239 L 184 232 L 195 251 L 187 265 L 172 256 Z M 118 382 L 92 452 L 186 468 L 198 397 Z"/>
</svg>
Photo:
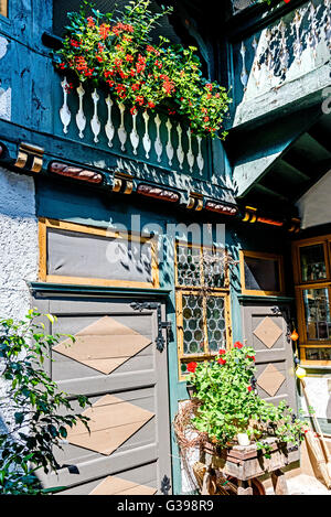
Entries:
<svg viewBox="0 0 331 517">
<path fill-rule="evenodd" d="M 84 6 L 70 13 L 57 67 L 72 74 L 70 88 L 89 82 L 110 91 L 131 114 L 166 109 L 184 118 L 196 136 L 218 136 L 231 103 L 225 88 L 203 78 L 195 47 L 171 45 L 162 36 L 151 45 L 152 29 L 172 8 L 153 14 L 149 6 L 150 0 L 136 0 L 122 13 L 93 9 L 94 17 L 86 18 Z"/>
</svg>

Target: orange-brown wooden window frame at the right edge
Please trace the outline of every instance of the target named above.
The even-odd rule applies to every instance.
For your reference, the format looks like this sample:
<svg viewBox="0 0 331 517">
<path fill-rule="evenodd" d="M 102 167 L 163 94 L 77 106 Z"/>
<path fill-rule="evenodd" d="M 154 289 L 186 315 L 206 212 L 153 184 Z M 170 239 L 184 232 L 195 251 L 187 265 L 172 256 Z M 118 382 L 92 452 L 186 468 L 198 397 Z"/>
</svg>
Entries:
<svg viewBox="0 0 331 517">
<path fill-rule="evenodd" d="M 302 281 L 300 249 L 314 245 L 323 245 L 327 278 L 319 280 Z M 297 321 L 299 333 L 299 355 L 302 365 L 307 366 L 330 366 L 331 360 L 307 359 L 306 351 L 308 348 L 331 348 L 331 338 L 329 340 L 308 340 L 303 291 L 306 289 L 328 289 L 329 290 L 329 310 L 331 314 L 331 234 L 310 237 L 292 241 L 292 265 L 296 291 Z"/>
</svg>

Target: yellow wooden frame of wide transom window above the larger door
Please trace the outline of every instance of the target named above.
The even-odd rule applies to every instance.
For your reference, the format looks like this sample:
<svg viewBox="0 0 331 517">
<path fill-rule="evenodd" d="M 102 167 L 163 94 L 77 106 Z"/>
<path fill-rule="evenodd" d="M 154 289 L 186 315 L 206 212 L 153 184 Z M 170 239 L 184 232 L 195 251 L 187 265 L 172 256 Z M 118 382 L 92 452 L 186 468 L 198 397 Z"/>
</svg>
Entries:
<svg viewBox="0 0 331 517">
<path fill-rule="evenodd" d="M 73 233 L 83 233 L 100 237 L 129 237 L 129 240 L 145 244 L 150 241 L 151 244 L 151 282 L 139 282 L 130 280 L 119 279 L 102 279 L 102 278 L 89 278 L 89 277 L 66 277 L 57 274 L 47 274 L 47 228 L 62 229 Z M 49 219 L 46 217 L 39 218 L 39 280 L 42 282 L 52 283 L 67 283 L 76 286 L 102 286 L 102 287 L 122 287 L 122 288 L 152 288 L 158 289 L 159 283 L 159 265 L 157 259 L 158 241 L 157 237 L 145 237 L 139 234 L 116 231 L 115 229 L 109 230 L 107 228 L 99 228 L 96 226 L 82 225 L 78 223 L 68 223 L 60 219 Z"/>
</svg>

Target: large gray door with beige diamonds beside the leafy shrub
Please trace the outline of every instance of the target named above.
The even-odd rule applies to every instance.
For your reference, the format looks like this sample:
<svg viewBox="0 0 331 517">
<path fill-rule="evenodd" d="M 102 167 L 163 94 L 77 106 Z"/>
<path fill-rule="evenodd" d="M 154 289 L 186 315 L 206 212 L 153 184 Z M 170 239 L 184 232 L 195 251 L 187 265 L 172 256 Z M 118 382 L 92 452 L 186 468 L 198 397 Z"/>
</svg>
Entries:
<svg viewBox="0 0 331 517">
<path fill-rule="evenodd" d="M 55 456 L 56 474 L 44 486 L 62 494 L 159 494 L 171 478 L 167 349 L 159 352 L 158 310 L 137 310 L 134 300 L 53 297 L 38 300 L 49 333 L 63 336 L 49 370 L 62 390 L 88 397 L 90 433 L 68 430 Z M 153 306 L 153 305 L 152 305 Z M 164 308 L 160 304 L 164 319 Z M 164 332 L 164 331 L 163 331 Z M 82 411 L 82 409 L 81 409 Z"/>
</svg>

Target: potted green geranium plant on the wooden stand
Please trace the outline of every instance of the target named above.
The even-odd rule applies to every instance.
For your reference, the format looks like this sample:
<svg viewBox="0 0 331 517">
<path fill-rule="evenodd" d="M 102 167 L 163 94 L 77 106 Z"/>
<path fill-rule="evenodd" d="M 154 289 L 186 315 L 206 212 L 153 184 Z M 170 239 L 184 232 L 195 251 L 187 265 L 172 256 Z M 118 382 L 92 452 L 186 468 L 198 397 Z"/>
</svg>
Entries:
<svg viewBox="0 0 331 517">
<path fill-rule="evenodd" d="M 266 449 L 266 437 L 279 443 L 298 444 L 303 439 L 303 422 L 285 401 L 278 407 L 261 399 L 255 389 L 255 351 L 239 342 L 228 352 L 221 349 L 214 360 L 191 363 L 190 380 L 200 401 L 193 426 L 224 448 L 247 432 L 258 449 Z"/>
</svg>

